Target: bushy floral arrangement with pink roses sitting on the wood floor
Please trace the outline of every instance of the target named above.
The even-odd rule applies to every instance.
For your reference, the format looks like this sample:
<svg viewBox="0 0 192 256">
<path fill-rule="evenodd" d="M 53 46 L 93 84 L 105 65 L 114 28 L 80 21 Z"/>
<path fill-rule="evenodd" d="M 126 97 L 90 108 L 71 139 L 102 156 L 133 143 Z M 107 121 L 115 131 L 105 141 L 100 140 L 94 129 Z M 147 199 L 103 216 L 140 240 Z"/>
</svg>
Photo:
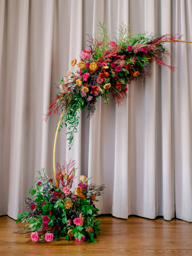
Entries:
<svg viewBox="0 0 192 256">
<path fill-rule="evenodd" d="M 57 164 L 57 186 L 44 168 L 37 171 L 36 187 L 29 191 L 29 194 L 35 195 L 35 200 L 26 198 L 27 211 L 24 215 L 18 214 L 17 219 L 17 223 L 26 221 L 25 228 L 31 230 L 27 242 L 58 241 L 65 237 L 67 240 L 96 243 L 94 238 L 100 234 L 100 220 L 96 221 L 94 217 L 99 211 L 94 201 L 98 201 L 96 196 L 103 193 L 104 185 L 88 185 L 91 177 L 81 175 L 80 183 L 71 191 L 76 171 L 74 165 L 72 160 L 69 164 L 65 162 L 62 167 Z"/>
</svg>

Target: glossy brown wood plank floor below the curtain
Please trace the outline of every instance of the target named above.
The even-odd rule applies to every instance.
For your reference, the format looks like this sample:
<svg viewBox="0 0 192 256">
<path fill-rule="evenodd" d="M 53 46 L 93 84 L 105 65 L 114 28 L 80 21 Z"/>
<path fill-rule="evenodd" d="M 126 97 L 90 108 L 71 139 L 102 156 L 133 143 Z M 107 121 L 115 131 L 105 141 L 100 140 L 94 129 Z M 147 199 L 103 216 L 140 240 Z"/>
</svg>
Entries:
<svg viewBox="0 0 192 256">
<path fill-rule="evenodd" d="M 1 256 L 77 256 L 77 255 L 192 255 L 192 223 L 179 219 L 165 221 L 130 216 L 127 220 L 111 215 L 99 216 L 101 234 L 97 243 L 53 242 L 26 243 L 24 234 L 15 234 L 24 223 L 8 216 L 0 217 Z"/>
</svg>

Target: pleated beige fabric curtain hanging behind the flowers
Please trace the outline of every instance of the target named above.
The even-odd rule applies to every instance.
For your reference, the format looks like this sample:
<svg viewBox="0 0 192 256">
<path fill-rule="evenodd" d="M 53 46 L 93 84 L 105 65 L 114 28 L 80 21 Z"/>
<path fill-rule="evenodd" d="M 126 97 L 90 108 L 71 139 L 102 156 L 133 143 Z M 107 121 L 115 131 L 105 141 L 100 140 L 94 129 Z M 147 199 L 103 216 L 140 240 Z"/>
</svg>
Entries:
<svg viewBox="0 0 192 256">
<path fill-rule="evenodd" d="M 0 0 L 0 215 L 17 219 L 35 171 L 53 177 L 58 115 L 43 120 L 54 82 L 86 49 L 86 34 L 106 24 L 111 38 L 123 21 L 131 33 L 175 33 L 192 41 L 191 0 Z M 152 75 L 128 86 L 118 108 L 101 99 L 93 118 L 80 112 L 68 150 L 58 135 L 56 162 L 76 160 L 77 175 L 105 184 L 100 214 L 192 222 L 192 44 L 165 43 L 177 67 L 151 65 Z M 74 182 L 76 186 L 78 178 Z"/>
</svg>

